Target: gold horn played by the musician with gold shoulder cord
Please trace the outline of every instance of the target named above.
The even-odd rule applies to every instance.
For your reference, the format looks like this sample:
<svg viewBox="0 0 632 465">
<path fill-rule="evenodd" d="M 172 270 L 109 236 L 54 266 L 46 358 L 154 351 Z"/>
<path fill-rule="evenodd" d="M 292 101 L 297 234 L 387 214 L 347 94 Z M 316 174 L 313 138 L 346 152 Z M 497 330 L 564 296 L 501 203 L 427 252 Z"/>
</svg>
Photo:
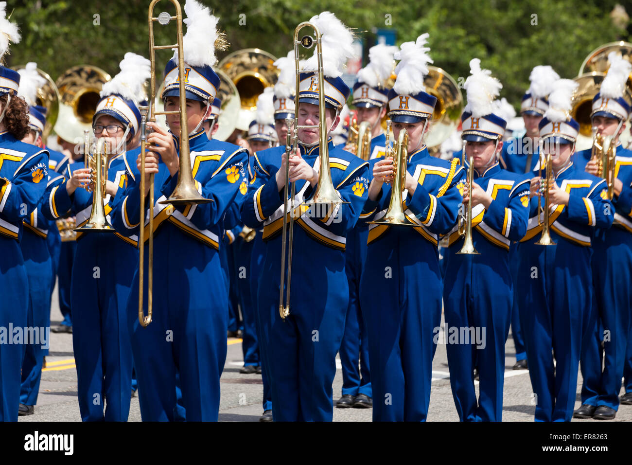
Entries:
<svg viewBox="0 0 632 465">
<path fill-rule="evenodd" d="M 387 143 L 386 151 L 389 152 L 389 140 L 390 139 L 390 123 L 388 121 Z M 391 199 L 389 201 L 389 208 L 386 210 L 386 214 L 381 220 L 368 221 L 373 225 L 397 225 L 397 226 L 416 226 L 406 218 L 404 213 L 404 202 L 402 200 L 402 194 L 404 192 L 404 185 L 406 184 L 406 159 L 408 158 L 408 132 L 402 129 L 399 132 L 398 140 L 394 147 L 395 158 L 393 159 L 393 182 L 391 190 Z"/>
</svg>

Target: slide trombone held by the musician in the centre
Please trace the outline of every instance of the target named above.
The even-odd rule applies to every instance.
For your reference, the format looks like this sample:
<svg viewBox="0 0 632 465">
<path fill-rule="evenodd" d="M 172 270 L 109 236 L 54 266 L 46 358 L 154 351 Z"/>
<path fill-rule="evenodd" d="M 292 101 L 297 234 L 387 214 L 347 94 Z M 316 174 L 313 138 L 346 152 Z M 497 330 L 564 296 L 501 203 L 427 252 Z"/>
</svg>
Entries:
<svg viewBox="0 0 632 465">
<path fill-rule="evenodd" d="M 313 30 L 312 35 L 303 35 L 301 40 L 298 40 L 298 33 L 304 27 L 310 27 Z M 316 44 L 316 52 L 318 58 L 318 95 L 319 95 L 319 122 L 317 125 L 299 125 L 298 124 L 298 108 L 300 107 L 300 101 L 298 99 L 298 89 L 300 89 L 300 74 L 301 66 L 298 54 L 298 46 L 301 45 L 306 49 L 312 48 Z M 299 129 L 318 129 L 319 130 L 319 158 L 320 158 L 320 170 L 318 185 L 312 195 L 312 199 L 305 202 L 308 207 L 316 205 L 328 205 L 332 210 L 337 205 L 347 204 L 349 202 L 343 201 L 342 197 L 336 190 L 334 183 L 331 179 L 331 171 L 329 167 L 329 147 L 327 146 L 327 125 L 325 118 L 325 75 L 322 66 L 322 38 L 320 30 L 317 26 L 310 22 L 302 22 L 296 26 L 294 30 L 294 57 L 295 57 L 295 70 L 296 70 L 296 109 L 294 118 L 286 118 L 286 125 L 288 125 L 288 135 L 286 136 L 286 164 L 285 164 L 285 187 L 284 195 L 286 199 L 283 204 L 283 239 L 281 249 L 281 286 L 279 288 L 279 314 L 285 321 L 289 315 L 289 296 L 291 285 L 291 271 L 292 271 L 292 249 L 294 239 L 294 197 L 295 197 L 295 183 L 289 185 L 289 156 L 291 153 L 296 152 L 298 148 L 298 130 Z M 291 136 L 290 136 L 291 133 Z M 285 283 L 285 260 L 286 260 L 286 242 L 287 238 L 287 226 L 288 226 L 288 199 L 287 195 L 290 192 L 289 202 L 291 203 L 291 218 L 289 219 L 289 252 L 288 257 L 288 290 L 284 295 L 284 283 Z M 285 297 L 285 298 L 284 298 Z"/>
</svg>

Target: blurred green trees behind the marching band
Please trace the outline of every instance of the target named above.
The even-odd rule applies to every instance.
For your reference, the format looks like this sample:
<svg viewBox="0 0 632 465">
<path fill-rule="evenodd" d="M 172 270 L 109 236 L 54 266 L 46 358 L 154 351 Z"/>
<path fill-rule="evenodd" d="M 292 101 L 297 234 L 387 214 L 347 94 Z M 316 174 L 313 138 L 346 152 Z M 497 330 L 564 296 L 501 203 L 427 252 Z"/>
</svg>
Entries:
<svg viewBox="0 0 632 465">
<path fill-rule="evenodd" d="M 8 10 L 12 6 L 9 2 Z M 363 39 L 365 61 L 375 44 L 376 28 L 392 28 L 397 44 L 430 34 L 430 56 L 458 80 L 469 74 L 478 57 L 492 70 L 516 108 L 535 65 L 551 65 L 562 76 L 577 75 L 593 49 L 614 40 L 629 40 L 632 6 L 616 0 L 407 0 L 406 2 L 321 0 L 202 0 L 219 16 L 231 43 L 229 51 L 259 47 L 283 56 L 298 23 L 329 10 Z M 181 4 L 184 4 L 182 1 Z M 128 52 L 149 54 L 149 0 L 23 0 L 14 4 L 22 41 L 6 57 L 9 66 L 36 61 L 57 78 L 70 66 L 96 65 L 111 75 Z M 161 7 L 173 11 L 169 2 Z M 626 13 L 626 9 L 628 13 Z M 174 35 L 157 25 L 157 43 Z M 174 33 L 173 33 L 174 34 Z M 221 59 L 226 53 L 218 54 Z M 169 53 L 159 54 L 164 65 Z"/>
</svg>

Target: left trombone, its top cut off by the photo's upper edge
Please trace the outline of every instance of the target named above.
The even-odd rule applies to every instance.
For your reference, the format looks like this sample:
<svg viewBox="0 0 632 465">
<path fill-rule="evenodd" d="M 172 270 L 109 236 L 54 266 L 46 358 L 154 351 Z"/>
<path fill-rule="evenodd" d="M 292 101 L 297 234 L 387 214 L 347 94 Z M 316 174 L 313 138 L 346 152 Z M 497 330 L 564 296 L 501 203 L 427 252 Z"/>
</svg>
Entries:
<svg viewBox="0 0 632 465">
<path fill-rule="evenodd" d="M 152 209 L 154 208 L 154 175 L 149 176 L 149 269 L 147 271 L 147 316 L 143 311 L 143 278 L 144 278 L 144 244 L 145 244 L 145 154 L 147 152 L 147 120 L 151 123 L 155 123 L 156 116 L 158 115 L 179 115 L 180 116 L 180 137 L 179 137 L 179 171 L 178 171 L 178 183 L 176 189 L 174 189 L 171 197 L 161 204 L 186 205 L 186 204 L 201 204 L 210 202 L 210 199 L 205 199 L 195 189 L 195 182 L 193 181 L 193 174 L 191 172 L 191 156 L 189 151 L 189 132 L 186 123 L 186 90 L 185 85 L 185 58 L 184 50 L 182 46 L 182 9 L 178 0 L 169 0 L 176 8 L 176 15 L 171 16 L 169 13 L 162 12 L 158 17 L 154 16 L 154 6 L 161 0 L 152 0 L 149 5 L 147 14 L 147 20 L 149 22 L 149 59 L 151 63 L 151 78 L 150 88 L 151 94 L 149 96 L 149 107 L 140 109 L 142 116 L 141 126 L 141 142 L 140 142 L 140 231 L 138 233 L 138 321 L 143 327 L 149 325 L 152 321 L 152 292 L 154 283 L 154 214 Z M 155 45 L 154 44 L 154 22 L 159 22 L 165 26 L 176 20 L 176 44 L 171 45 Z M 155 101 L 156 96 L 156 71 L 155 71 L 155 51 L 156 50 L 171 50 L 178 49 L 178 81 L 180 91 L 180 101 L 178 110 L 174 111 L 155 111 L 151 105 Z M 148 118 L 149 117 L 149 118 Z"/>
</svg>

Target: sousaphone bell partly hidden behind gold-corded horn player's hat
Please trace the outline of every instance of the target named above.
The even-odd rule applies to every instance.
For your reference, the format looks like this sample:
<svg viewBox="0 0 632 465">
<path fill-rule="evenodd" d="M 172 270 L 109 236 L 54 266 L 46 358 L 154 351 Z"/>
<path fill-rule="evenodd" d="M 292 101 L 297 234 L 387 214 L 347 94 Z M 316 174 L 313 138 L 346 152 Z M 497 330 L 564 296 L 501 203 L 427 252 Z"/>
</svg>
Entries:
<svg viewBox="0 0 632 465">
<path fill-rule="evenodd" d="M 428 66 L 423 84 L 428 94 L 437 97 L 430 120 L 432 126 L 426 137 L 426 146 L 431 151 L 435 147 L 438 149 L 458 127 L 463 112 L 463 95 L 454 78 L 437 66 Z"/>
</svg>

